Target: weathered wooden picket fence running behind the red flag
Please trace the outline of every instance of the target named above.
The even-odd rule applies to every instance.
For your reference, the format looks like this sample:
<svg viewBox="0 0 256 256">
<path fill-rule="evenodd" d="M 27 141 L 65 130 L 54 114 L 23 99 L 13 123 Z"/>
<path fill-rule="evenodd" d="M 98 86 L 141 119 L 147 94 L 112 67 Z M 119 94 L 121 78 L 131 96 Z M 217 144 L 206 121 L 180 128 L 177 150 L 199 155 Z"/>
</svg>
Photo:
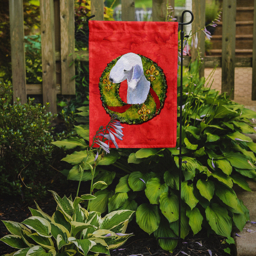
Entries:
<svg viewBox="0 0 256 256">
<path fill-rule="evenodd" d="M 174 0 L 152 0 L 153 21 L 165 21 L 166 2 L 174 6 Z M 122 0 L 122 20 L 135 20 L 135 0 Z M 192 33 L 205 26 L 205 0 L 193 0 L 194 21 Z M 50 111 L 57 113 L 57 94 L 75 94 L 75 56 L 81 61 L 88 61 L 88 51 L 74 53 L 74 0 L 40 0 L 41 44 L 42 44 L 42 84 L 26 84 L 23 0 L 9 0 L 10 31 L 12 47 L 12 74 L 14 99 L 19 97 L 26 102 L 29 94 L 42 94 L 43 103 L 50 102 Z M 201 56 L 205 67 L 222 68 L 222 91 L 230 93 L 234 89 L 234 68 L 252 67 L 252 100 L 256 100 L 256 0 L 254 0 L 253 54 L 252 57 L 235 56 L 236 40 L 236 0 L 223 0 L 222 12 L 222 56 Z M 175 12 L 175 10 L 174 10 Z M 91 14 L 96 20 L 103 20 L 104 0 L 91 0 Z M 184 30 L 186 26 L 184 26 Z M 189 31 L 188 31 L 189 32 Z M 197 49 L 191 50 L 191 57 L 186 56 L 184 65 L 190 58 L 195 60 L 197 51 L 205 52 L 205 35 L 198 33 Z M 233 98 L 234 94 L 231 94 Z"/>
</svg>

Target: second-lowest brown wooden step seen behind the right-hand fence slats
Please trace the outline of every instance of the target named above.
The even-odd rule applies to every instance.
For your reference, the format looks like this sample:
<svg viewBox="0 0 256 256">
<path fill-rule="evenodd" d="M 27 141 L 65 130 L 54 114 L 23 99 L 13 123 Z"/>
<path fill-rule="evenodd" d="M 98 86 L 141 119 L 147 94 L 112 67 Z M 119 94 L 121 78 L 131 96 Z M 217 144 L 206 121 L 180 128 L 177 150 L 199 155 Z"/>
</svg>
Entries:
<svg viewBox="0 0 256 256">
<path fill-rule="evenodd" d="M 221 49 L 222 35 L 212 35 L 211 38 L 213 49 Z M 236 35 L 236 49 L 252 49 L 252 35 Z"/>
</svg>

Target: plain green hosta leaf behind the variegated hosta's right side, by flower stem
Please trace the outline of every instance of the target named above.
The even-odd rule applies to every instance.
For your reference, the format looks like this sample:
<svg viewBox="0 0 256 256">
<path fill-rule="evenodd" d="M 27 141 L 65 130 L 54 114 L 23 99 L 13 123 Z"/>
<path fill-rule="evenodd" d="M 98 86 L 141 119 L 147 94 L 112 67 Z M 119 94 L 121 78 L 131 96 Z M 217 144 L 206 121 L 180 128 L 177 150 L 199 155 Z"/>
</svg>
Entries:
<svg viewBox="0 0 256 256">
<path fill-rule="evenodd" d="M 90 211 L 105 212 L 108 209 L 108 200 L 112 196 L 112 192 L 104 189 L 94 194 L 97 198 L 90 202 Z"/>
</svg>

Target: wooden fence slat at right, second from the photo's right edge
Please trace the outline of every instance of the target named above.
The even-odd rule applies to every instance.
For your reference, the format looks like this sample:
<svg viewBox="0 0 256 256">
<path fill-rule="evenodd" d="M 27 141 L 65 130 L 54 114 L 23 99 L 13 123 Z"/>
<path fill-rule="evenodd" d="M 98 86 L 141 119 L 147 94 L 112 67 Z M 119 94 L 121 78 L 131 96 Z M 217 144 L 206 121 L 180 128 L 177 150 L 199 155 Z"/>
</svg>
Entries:
<svg viewBox="0 0 256 256">
<path fill-rule="evenodd" d="M 222 12 L 222 75 L 221 92 L 234 99 L 235 47 L 236 47 L 236 2 L 223 0 Z"/>
</svg>

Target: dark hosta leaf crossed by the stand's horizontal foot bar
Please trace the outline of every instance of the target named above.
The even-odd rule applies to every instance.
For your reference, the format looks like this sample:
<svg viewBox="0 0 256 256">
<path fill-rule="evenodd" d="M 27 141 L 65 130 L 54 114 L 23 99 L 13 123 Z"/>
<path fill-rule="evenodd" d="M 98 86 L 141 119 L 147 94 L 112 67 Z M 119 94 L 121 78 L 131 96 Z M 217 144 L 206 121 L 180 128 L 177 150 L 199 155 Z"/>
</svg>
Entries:
<svg viewBox="0 0 256 256">
<path fill-rule="evenodd" d="M 158 237 L 177 237 L 176 234 L 170 229 L 168 222 L 166 220 L 161 220 L 159 227 L 154 231 L 154 236 L 157 239 Z M 159 239 L 159 246 L 163 250 L 173 252 L 175 247 L 177 246 L 177 239 Z"/>
</svg>

